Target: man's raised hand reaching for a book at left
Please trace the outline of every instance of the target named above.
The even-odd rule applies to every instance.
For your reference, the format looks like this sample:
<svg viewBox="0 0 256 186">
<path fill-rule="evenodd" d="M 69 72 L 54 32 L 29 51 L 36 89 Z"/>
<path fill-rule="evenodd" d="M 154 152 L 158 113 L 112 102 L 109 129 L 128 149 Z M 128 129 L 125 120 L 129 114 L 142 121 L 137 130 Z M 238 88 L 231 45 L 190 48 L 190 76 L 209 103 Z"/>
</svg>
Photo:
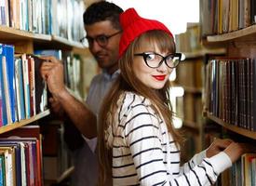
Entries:
<svg viewBox="0 0 256 186">
<path fill-rule="evenodd" d="M 64 85 L 63 65 L 54 57 L 41 57 L 45 60 L 41 66 L 41 74 L 47 81 L 47 86 L 54 97 L 59 97 L 67 91 Z"/>
</svg>

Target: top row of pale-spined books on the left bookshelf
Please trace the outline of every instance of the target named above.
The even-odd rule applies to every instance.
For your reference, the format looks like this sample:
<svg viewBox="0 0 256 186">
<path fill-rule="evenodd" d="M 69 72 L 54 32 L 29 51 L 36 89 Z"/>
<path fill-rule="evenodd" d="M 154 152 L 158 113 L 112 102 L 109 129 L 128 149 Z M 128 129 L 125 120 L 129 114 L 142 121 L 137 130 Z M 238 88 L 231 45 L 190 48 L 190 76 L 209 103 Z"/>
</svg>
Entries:
<svg viewBox="0 0 256 186">
<path fill-rule="evenodd" d="M 2 0 L 0 24 L 72 41 L 84 36 L 82 0 Z"/>
</svg>

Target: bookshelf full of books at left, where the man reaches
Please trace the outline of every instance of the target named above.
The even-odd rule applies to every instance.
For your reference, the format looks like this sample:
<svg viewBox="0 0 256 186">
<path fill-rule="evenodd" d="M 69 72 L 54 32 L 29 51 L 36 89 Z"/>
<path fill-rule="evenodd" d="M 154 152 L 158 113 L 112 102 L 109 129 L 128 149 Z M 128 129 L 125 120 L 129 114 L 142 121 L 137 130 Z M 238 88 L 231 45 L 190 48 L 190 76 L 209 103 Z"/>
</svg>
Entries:
<svg viewBox="0 0 256 186">
<path fill-rule="evenodd" d="M 24 4 L 26 4 L 26 5 L 24 5 Z M 19 1 L 19 2 L 5 1 L 5 3 L 1 5 L 1 8 L 2 8 L 2 14 L 0 17 L 0 22 L 1 22 L 0 43 L 3 44 L 3 47 L 4 46 L 12 46 L 15 54 L 20 54 L 20 56 L 21 56 L 21 54 L 23 54 L 23 55 L 26 54 L 25 60 L 28 60 L 28 58 L 36 59 L 36 57 L 33 56 L 35 50 L 61 51 L 61 53 L 63 54 L 62 55 L 63 59 L 61 59 L 61 60 L 62 61 L 65 60 L 65 62 L 66 62 L 65 70 L 66 69 L 68 70 L 67 72 L 65 72 L 65 73 L 68 73 L 66 75 L 66 77 L 69 77 L 70 73 L 73 73 L 75 75 L 77 74 L 77 77 L 73 76 L 73 78 L 75 78 L 75 81 L 69 79 L 69 86 L 74 87 L 74 89 L 78 89 L 76 87 L 76 86 L 78 86 L 78 85 L 76 85 L 77 78 L 80 78 L 80 76 L 83 73 L 80 73 L 80 69 L 79 69 L 78 73 L 74 69 L 80 68 L 80 64 L 78 64 L 78 63 L 80 63 L 80 61 L 78 61 L 78 60 L 80 60 L 79 57 L 83 56 L 83 55 L 85 55 L 85 56 L 88 55 L 88 48 L 86 48 L 79 42 L 79 39 L 85 35 L 84 25 L 83 25 L 83 16 L 82 16 L 83 12 L 85 10 L 84 1 L 82 1 L 82 0 L 77 0 L 77 1 L 76 0 L 75 1 L 73 1 L 73 0 L 66 0 L 66 1 L 44 0 L 44 1 L 34 1 L 34 2 L 32 2 L 32 0 L 28 0 L 26 2 L 24 2 L 24 1 Z M 65 11 L 65 8 L 67 11 Z M 62 11 L 60 11 L 60 9 Z M 57 14 L 57 12 L 58 12 L 58 14 Z M 1 55 L 2 55 L 2 53 L 1 53 Z M 4 53 L 4 55 L 7 55 L 7 54 Z M 12 58 L 14 58 L 14 56 Z M 15 62 L 17 61 L 17 58 L 21 59 L 22 57 L 17 57 L 17 55 L 16 55 L 14 58 Z M 82 57 L 82 58 L 87 58 L 87 57 Z M 3 64 L 2 60 L 3 60 L 3 57 L 1 56 L 1 61 L 0 61 L 1 67 Z M 23 59 L 21 59 L 21 60 L 23 62 Z M 39 66 L 40 66 L 40 65 L 36 66 L 36 64 L 39 64 L 37 62 L 38 61 L 34 62 L 34 76 L 35 77 L 40 75 L 38 73 L 39 71 L 35 72 L 35 69 L 38 70 Z M 7 62 L 4 62 L 3 66 L 6 65 L 6 63 Z M 23 63 L 21 63 L 21 68 L 23 70 L 24 67 L 22 65 L 23 65 Z M 31 65 L 31 64 L 28 64 L 27 66 L 33 68 L 33 65 Z M 4 66 L 4 67 L 6 68 L 6 66 Z M 16 68 L 16 66 L 15 66 L 15 68 Z M 84 67 L 84 69 L 86 69 L 86 67 Z M 2 73 L 3 72 L 2 68 L 0 68 L 0 70 Z M 15 74 L 18 74 L 17 69 L 14 69 L 13 72 Z M 32 72 L 32 70 L 29 70 L 27 72 Z M 81 72 L 82 72 L 82 70 L 81 70 Z M 91 71 L 91 72 L 93 72 L 93 71 Z M 35 77 L 33 78 L 32 73 L 24 73 L 24 74 L 26 75 L 26 78 L 29 79 L 29 84 L 31 84 L 32 81 L 35 81 Z M 78 74 L 80 74 L 79 77 L 78 77 Z M 23 75 L 23 72 L 22 72 L 22 75 Z M 5 77 L 3 79 L 9 81 L 9 77 L 7 76 L 7 74 L 4 74 L 3 76 Z M 12 75 L 10 75 L 10 76 L 12 76 Z M 10 77 L 10 78 L 12 78 L 12 77 Z M 13 91 L 15 93 L 15 95 L 13 97 L 16 98 L 17 100 L 19 100 L 18 97 L 20 96 L 19 95 L 20 90 L 16 87 L 20 87 L 17 85 L 19 85 L 19 83 L 22 82 L 25 77 L 22 76 L 22 81 L 20 80 L 19 83 L 18 83 L 18 81 L 16 82 L 15 78 L 16 78 L 16 76 L 13 77 L 13 79 L 15 80 L 15 82 L 13 81 L 14 82 L 13 84 L 15 85 L 15 87 L 13 87 L 13 89 L 15 89 Z M 11 110 L 13 108 L 13 107 L 11 107 L 12 106 L 11 101 L 9 103 L 8 100 L 6 100 L 6 99 L 5 99 L 5 102 L 8 102 L 8 105 L 7 106 L 2 105 L 2 98 L 3 98 L 2 95 L 5 93 L 5 97 L 9 96 L 9 94 L 6 95 L 7 92 L 4 92 L 3 89 L 5 91 L 7 91 L 7 89 L 9 87 L 11 87 L 11 86 L 9 86 L 9 83 L 6 83 L 6 85 L 4 85 L 4 87 L 2 87 L 3 79 L 1 76 L 1 79 L 0 79 L 0 82 L 1 82 L 1 84 L 0 84 L 0 86 L 1 86 L 1 88 L 0 88 L 0 91 L 1 91 L 1 94 L 0 94 L 0 107 L 1 107 L 0 108 L 0 112 L 1 112 L 0 123 L 1 123 L 1 125 L 3 124 L 2 123 L 2 111 L 3 111 L 2 109 L 5 108 L 5 110 L 7 110 L 7 109 Z M 10 82 L 12 82 L 12 81 L 10 81 Z M 40 82 L 42 82 L 41 79 L 40 79 Z M 38 82 L 36 82 L 34 84 L 37 85 L 37 83 Z M 72 85 L 72 84 L 75 84 L 75 85 Z M 22 86 L 23 86 L 23 82 L 22 82 Z M 28 89 L 30 89 L 30 88 L 31 88 L 31 85 L 29 85 Z M 35 88 L 37 88 L 37 86 L 35 86 Z M 44 88 L 45 88 L 45 86 L 44 86 Z M 32 89 L 30 89 L 30 90 L 33 91 Z M 44 89 L 44 90 L 46 90 L 46 89 Z M 34 90 L 34 91 L 36 93 L 37 90 Z M 47 92 L 47 91 L 45 91 L 45 92 Z M 77 92 L 78 92 L 78 90 L 77 90 Z M 12 97 L 12 96 L 9 96 L 9 97 Z M 24 100 L 28 99 L 25 96 L 20 96 L 20 98 L 24 98 Z M 28 100 L 31 101 L 31 98 L 33 98 L 32 95 L 30 95 L 30 99 L 28 99 Z M 23 101 L 23 100 L 21 100 L 21 101 Z M 47 99 L 45 102 L 47 102 Z M 25 102 L 25 103 L 26 104 L 24 104 L 24 107 L 28 105 L 27 104 L 28 102 Z M 18 105 L 19 102 L 16 102 L 15 104 Z M 50 113 L 50 111 L 46 107 L 46 105 L 41 106 L 41 104 L 34 104 L 35 106 L 33 105 L 33 107 L 31 107 L 34 109 L 34 111 L 32 113 L 28 112 L 31 115 L 30 116 L 26 115 L 23 118 L 22 117 L 20 118 L 20 116 L 18 116 L 21 114 L 18 111 L 19 108 L 17 105 L 15 105 L 16 112 L 17 112 L 17 113 L 15 113 L 15 117 L 16 117 L 15 120 L 12 119 L 12 116 L 14 114 L 11 113 L 11 117 L 10 117 L 9 116 L 10 114 L 8 113 L 9 114 L 8 121 L 10 121 L 9 118 L 11 118 L 12 119 L 11 121 L 14 121 L 14 122 L 6 122 L 6 119 L 5 119 L 5 125 L 0 127 L 0 143 L 2 142 L 1 140 L 3 138 L 7 138 L 8 135 L 11 135 L 11 136 L 14 135 L 14 136 L 17 136 L 20 138 L 23 135 L 22 138 L 32 138 L 32 137 L 34 138 L 34 134 L 29 133 L 27 131 L 32 131 L 32 128 L 34 130 L 34 127 L 36 126 L 35 127 L 36 132 L 37 132 L 36 134 L 38 134 L 36 136 L 36 140 L 32 140 L 33 142 L 30 141 L 29 143 L 36 143 L 37 146 L 36 146 L 36 148 L 34 148 L 34 146 L 33 147 L 29 146 L 27 142 L 22 143 L 22 145 L 24 144 L 25 148 L 27 148 L 27 147 L 31 148 L 31 151 L 29 151 L 27 149 L 26 150 L 22 149 L 23 153 L 22 154 L 20 153 L 20 158 L 21 158 L 21 156 L 26 157 L 26 162 L 22 163 L 23 164 L 22 169 L 20 168 L 21 166 L 19 166 L 19 167 L 17 166 L 19 163 L 15 162 L 15 166 L 12 166 L 12 170 L 11 170 L 11 171 L 13 171 L 12 172 L 13 176 L 5 177 L 5 178 L 9 178 L 10 180 L 3 179 L 4 178 L 3 175 L 5 173 L 0 171 L 0 185 L 6 185 L 7 181 L 8 182 L 10 181 L 9 183 L 7 183 L 7 185 L 21 185 L 20 181 L 22 181 L 22 184 L 26 183 L 26 185 L 38 185 L 38 186 L 45 185 L 45 184 L 47 184 L 47 181 L 44 180 L 44 179 L 46 179 L 46 177 L 45 177 L 46 165 L 45 165 L 45 162 L 43 163 L 43 161 L 44 161 L 43 155 L 47 148 L 44 147 L 42 144 L 45 144 L 45 141 L 46 141 L 45 137 L 46 137 L 46 135 L 48 135 L 46 132 L 48 132 L 49 130 L 44 128 L 45 133 L 43 134 L 42 128 L 43 128 L 43 126 L 44 127 L 45 126 L 52 127 L 52 125 L 50 123 L 55 122 L 55 121 L 52 121 L 52 114 Z M 3 108 L 2 108 L 2 106 L 3 106 Z M 38 112 L 39 111 L 39 110 L 37 110 L 38 108 L 40 108 L 40 109 L 44 108 L 44 109 L 42 109 L 40 112 Z M 9 112 L 9 111 L 7 111 L 7 112 Z M 54 132 L 56 134 L 55 139 L 48 140 L 48 141 L 50 141 L 49 144 L 51 144 L 51 143 L 57 144 L 57 142 L 58 142 L 58 144 L 61 146 L 61 147 L 58 146 L 54 150 L 57 154 L 56 159 L 60 160 L 60 161 L 58 161 L 58 163 L 60 163 L 60 165 L 61 165 L 61 166 L 58 166 L 58 165 L 56 166 L 55 173 L 58 173 L 58 174 L 56 174 L 55 180 L 52 180 L 55 183 L 61 182 L 64 179 L 68 179 L 68 177 L 74 171 L 74 166 L 69 164 L 71 162 L 71 159 L 68 160 L 69 161 L 68 164 L 63 165 L 66 162 L 62 161 L 62 159 L 60 159 L 60 156 L 58 156 L 60 153 L 58 151 L 64 146 L 63 145 L 64 141 L 63 141 L 63 138 L 61 137 L 61 135 L 63 135 L 63 128 L 61 127 L 60 122 L 58 123 L 58 125 L 60 125 L 60 127 L 54 126 L 55 127 L 54 129 L 52 129 L 53 127 L 50 128 L 50 129 L 54 130 Z M 60 134 L 58 132 L 60 132 Z M 56 141 L 54 141 L 54 140 L 56 140 Z M 22 145 L 19 142 L 19 150 L 20 150 L 20 146 L 22 146 Z M 17 148 L 17 147 L 18 146 L 15 146 L 15 148 Z M 22 148 L 24 148 L 24 147 L 22 146 Z M 34 152 L 34 149 L 32 150 L 32 148 L 36 149 L 36 152 Z M 20 152 L 21 152 L 21 150 L 20 150 Z M 30 156 L 28 154 L 25 154 L 25 152 L 26 153 L 29 152 Z M 33 152 L 33 154 L 32 154 L 32 152 Z M 63 155 L 64 158 L 66 158 L 66 159 L 69 158 L 67 149 L 62 148 L 61 153 L 62 153 L 61 155 Z M 16 153 L 16 155 L 17 154 L 18 153 Z M 3 155 L 3 153 L 0 153 L 0 161 L 2 161 L 2 159 L 3 159 L 2 155 Z M 27 156 L 28 156 L 28 158 L 27 158 Z M 17 157 L 15 156 L 15 159 L 12 159 L 12 160 L 16 160 L 16 159 L 19 160 L 19 157 L 18 158 Z M 34 157 L 36 157 L 36 158 L 34 158 Z M 35 162 L 35 160 L 32 160 L 32 158 L 36 159 L 36 162 Z M 28 161 L 30 161 L 29 163 L 33 162 L 33 165 L 32 165 L 33 168 L 31 165 L 29 165 Z M 10 163 L 12 161 L 8 161 L 8 162 Z M 57 162 L 57 161 L 55 161 L 55 162 Z M 29 166 L 26 166 L 26 164 L 28 164 Z M 4 165 L 3 162 L 1 162 L 1 165 L 2 166 Z M 19 165 L 21 165 L 21 163 Z M 17 169 L 16 169 L 16 166 L 17 166 Z M 53 169 L 53 168 L 51 168 L 51 166 L 52 165 L 48 166 L 49 170 Z M 7 165 L 6 167 L 11 167 L 11 166 Z M 2 168 L 1 170 L 3 170 L 3 167 L 1 167 L 1 168 Z M 21 173 L 18 171 L 20 171 Z M 26 174 L 24 174 L 24 172 L 26 172 Z M 9 173 L 7 173 L 7 174 L 9 174 Z M 17 176 L 17 178 L 16 178 L 16 176 Z M 2 181 L 6 181 L 6 182 L 2 182 Z M 44 184 L 44 182 L 45 182 L 45 184 Z"/>
</svg>

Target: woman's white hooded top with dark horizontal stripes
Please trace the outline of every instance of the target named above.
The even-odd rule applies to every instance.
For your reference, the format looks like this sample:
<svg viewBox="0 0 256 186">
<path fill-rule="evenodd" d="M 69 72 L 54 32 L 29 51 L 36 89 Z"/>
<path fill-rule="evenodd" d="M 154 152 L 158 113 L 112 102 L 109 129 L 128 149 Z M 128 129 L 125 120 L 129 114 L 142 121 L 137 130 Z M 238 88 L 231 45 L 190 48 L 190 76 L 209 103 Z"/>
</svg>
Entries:
<svg viewBox="0 0 256 186">
<path fill-rule="evenodd" d="M 205 152 L 180 166 L 180 151 L 150 105 L 131 92 L 117 101 L 114 121 L 105 133 L 113 149 L 114 185 L 211 185 L 231 166 L 226 153 L 206 158 Z"/>
</svg>

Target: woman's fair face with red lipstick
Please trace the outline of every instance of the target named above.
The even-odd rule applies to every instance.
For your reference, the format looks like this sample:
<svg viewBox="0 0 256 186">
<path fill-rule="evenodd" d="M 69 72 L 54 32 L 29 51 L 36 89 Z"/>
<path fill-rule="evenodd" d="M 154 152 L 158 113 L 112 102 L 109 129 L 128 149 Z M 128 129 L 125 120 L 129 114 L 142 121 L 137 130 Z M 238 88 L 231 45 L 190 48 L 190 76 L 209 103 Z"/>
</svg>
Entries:
<svg viewBox="0 0 256 186">
<path fill-rule="evenodd" d="M 150 88 L 154 89 L 161 89 L 163 86 L 165 86 L 166 82 L 168 81 L 169 74 L 172 72 L 172 69 L 169 68 L 165 61 L 162 62 L 162 64 L 157 68 L 151 68 L 149 67 L 146 62 L 145 58 L 141 55 L 141 53 L 155 53 L 156 56 L 153 54 L 153 56 L 148 55 L 146 56 L 147 61 L 154 60 L 154 58 L 157 58 L 158 60 L 162 60 L 162 57 L 166 57 L 169 55 L 169 53 L 163 53 L 159 51 L 158 47 L 150 47 L 146 46 L 144 48 L 141 48 L 140 51 L 135 52 L 134 60 L 133 60 L 133 72 L 135 73 L 136 77 L 141 80 L 141 82 Z M 161 55 L 158 56 L 157 54 Z M 145 56 L 145 55 L 144 55 Z M 157 61 L 158 61 L 157 60 Z M 148 62 L 148 64 L 151 64 Z M 155 65 L 157 66 L 157 62 Z"/>
</svg>

